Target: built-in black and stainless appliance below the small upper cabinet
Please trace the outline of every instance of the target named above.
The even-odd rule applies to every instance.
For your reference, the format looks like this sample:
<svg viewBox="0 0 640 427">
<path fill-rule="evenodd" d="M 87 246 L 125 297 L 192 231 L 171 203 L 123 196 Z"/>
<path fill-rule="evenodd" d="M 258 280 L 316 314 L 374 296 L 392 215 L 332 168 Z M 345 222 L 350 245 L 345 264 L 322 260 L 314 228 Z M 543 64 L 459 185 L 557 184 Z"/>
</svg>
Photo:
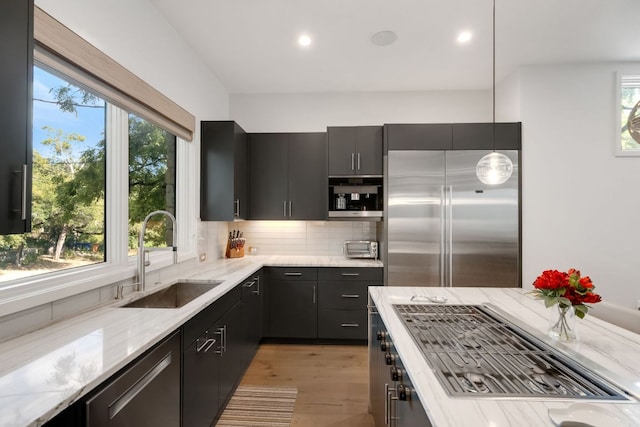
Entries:
<svg viewBox="0 0 640 427">
<path fill-rule="evenodd" d="M 382 219 L 382 178 L 329 178 L 329 219 Z"/>
</svg>

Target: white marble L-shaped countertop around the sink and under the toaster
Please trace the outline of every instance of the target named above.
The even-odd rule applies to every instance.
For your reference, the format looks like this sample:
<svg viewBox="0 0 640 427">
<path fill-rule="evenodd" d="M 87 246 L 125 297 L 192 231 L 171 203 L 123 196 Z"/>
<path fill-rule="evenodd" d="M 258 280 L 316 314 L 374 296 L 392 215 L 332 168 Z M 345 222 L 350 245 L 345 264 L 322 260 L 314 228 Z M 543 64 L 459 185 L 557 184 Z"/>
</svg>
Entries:
<svg viewBox="0 0 640 427">
<path fill-rule="evenodd" d="M 181 308 L 120 308 L 133 299 L 128 296 L 0 343 L 0 426 L 44 424 L 263 266 L 382 267 L 382 263 L 323 256 L 214 260 L 185 279 L 224 282 Z"/>
</svg>

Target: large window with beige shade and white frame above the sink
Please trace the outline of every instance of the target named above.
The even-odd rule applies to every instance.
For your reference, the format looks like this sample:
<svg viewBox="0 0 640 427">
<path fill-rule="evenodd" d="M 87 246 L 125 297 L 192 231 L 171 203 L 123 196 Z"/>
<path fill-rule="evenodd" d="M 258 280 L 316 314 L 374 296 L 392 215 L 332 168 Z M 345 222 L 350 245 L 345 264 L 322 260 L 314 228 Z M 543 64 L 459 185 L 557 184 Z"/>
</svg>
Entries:
<svg viewBox="0 0 640 427">
<path fill-rule="evenodd" d="M 0 263 L 3 252 L 6 260 L 14 262 L 0 264 L 0 316 L 132 280 L 137 232 L 144 215 L 153 210 L 174 213 L 178 242 L 167 240 L 171 230 L 160 222 L 148 229 L 147 241 L 176 245 L 179 261 L 196 257 L 197 203 L 188 191 L 197 162 L 190 143 L 195 118 L 35 9 L 35 74 L 54 80 L 40 87 L 35 85 L 44 77 L 34 79 L 34 94 L 41 99 L 34 102 L 42 104 L 34 112 L 46 109 L 44 117 L 52 120 L 41 130 L 44 122 L 34 114 L 38 128 L 33 138 L 34 163 L 42 163 L 41 169 L 33 171 L 34 198 L 43 197 L 34 203 L 59 208 L 57 224 L 67 227 L 63 235 L 63 227 L 57 225 L 54 230 L 50 218 L 34 218 L 29 235 L 0 236 Z M 53 121 L 62 116 L 63 121 Z M 85 116 L 91 116 L 86 119 L 91 126 L 74 128 Z M 43 140 L 48 142 L 42 144 Z M 45 168 L 53 166 L 57 175 Z M 47 205 L 45 196 L 57 205 Z M 34 216 L 38 212 L 34 209 Z M 41 262 L 38 258 L 55 256 L 58 244 L 60 262 L 47 270 L 35 269 Z M 16 255 L 7 253 L 16 250 L 22 251 L 20 277 L 8 274 L 20 269 L 14 267 Z M 164 260 L 165 253 L 154 255 L 161 262 L 153 262 L 152 268 L 170 264 Z M 104 297 L 108 300 L 109 293 Z"/>
</svg>

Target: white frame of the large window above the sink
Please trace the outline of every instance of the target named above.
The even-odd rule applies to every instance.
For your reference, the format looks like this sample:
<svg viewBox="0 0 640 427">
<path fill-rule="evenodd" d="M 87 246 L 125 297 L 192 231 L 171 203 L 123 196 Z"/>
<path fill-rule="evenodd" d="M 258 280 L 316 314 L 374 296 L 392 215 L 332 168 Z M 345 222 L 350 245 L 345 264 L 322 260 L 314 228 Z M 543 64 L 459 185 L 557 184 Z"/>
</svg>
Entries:
<svg viewBox="0 0 640 427">
<path fill-rule="evenodd" d="M 37 13 L 36 13 L 37 16 Z M 66 27 L 65 27 L 66 28 Z M 70 32 L 70 30 L 67 29 Z M 77 35 L 74 34 L 75 37 Z M 94 48 L 95 49 L 95 48 Z M 50 56 L 53 53 L 49 52 Z M 57 61 L 63 61 L 57 58 Z M 64 61 L 66 62 L 66 61 Z M 48 68 L 68 76 L 71 81 L 77 81 L 69 76 L 67 69 L 60 69 L 44 62 Z M 74 64 L 67 63 L 71 68 Z M 77 70 L 80 72 L 79 70 Z M 85 78 L 92 80 L 93 76 Z M 137 78 L 137 77 L 136 77 Z M 84 82 L 80 82 L 83 84 Z M 92 88 L 93 89 L 93 88 Z M 102 96 L 103 91 L 97 90 Z M 167 98 L 168 99 L 168 98 Z M 52 303 L 71 296 L 93 291 L 102 287 L 115 285 L 118 282 L 135 279 L 137 270 L 137 257 L 128 256 L 128 120 L 129 112 L 151 120 L 155 124 L 166 129 L 161 123 L 150 119 L 140 111 L 127 111 L 111 102 L 109 96 L 106 113 L 106 192 L 105 192 L 105 257 L 106 260 L 99 264 L 84 267 L 76 267 L 59 270 L 52 273 L 26 277 L 0 284 L 0 317 L 28 310 L 39 305 Z M 193 117 L 193 116 L 191 116 Z M 195 119 L 194 119 L 195 120 Z M 171 129 L 167 129 L 174 133 Z M 193 135 L 190 134 L 189 137 Z M 191 138 L 189 138 L 191 139 Z M 189 191 L 196 185 L 195 172 L 197 169 L 195 159 L 195 144 L 181 136 L 176 136 L 176 218 L 178 222 L 178 262 L 197 258 L 197 216 L 196 216 L 196 192 Z M 170 265 L 172 254 L 154 253 L 152 265 L 147 271 L 163 268 Z M 112 286 L 109 294 L 104 298 L 96 298 L 94 304 L 107 304 L 115 298 L 115 290 Z"/>
</svg>

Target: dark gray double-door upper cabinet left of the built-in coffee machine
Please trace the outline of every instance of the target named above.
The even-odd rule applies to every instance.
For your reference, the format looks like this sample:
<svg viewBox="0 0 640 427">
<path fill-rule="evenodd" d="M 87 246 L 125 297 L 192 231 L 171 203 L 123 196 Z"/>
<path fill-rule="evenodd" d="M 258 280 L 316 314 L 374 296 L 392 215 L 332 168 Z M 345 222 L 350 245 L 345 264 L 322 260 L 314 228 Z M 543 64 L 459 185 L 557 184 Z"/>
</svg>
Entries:
<svg viewBox="0 0 640 427">
<path fill-rule="evenodd" d="M 249 134 L 249 218 L 327 217 L 326 133 Z"/>
</svg>

